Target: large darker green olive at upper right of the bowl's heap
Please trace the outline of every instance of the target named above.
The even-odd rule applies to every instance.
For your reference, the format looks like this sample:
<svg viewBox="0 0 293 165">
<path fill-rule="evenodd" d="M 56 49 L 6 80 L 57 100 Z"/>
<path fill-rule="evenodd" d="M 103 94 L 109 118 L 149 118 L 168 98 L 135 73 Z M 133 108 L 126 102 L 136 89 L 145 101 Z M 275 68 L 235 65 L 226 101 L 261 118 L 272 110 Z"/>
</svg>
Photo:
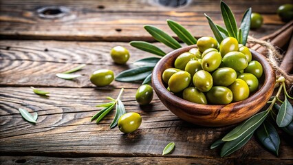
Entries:
<svg viewBox="0 0 293 165">
<path fill-rule="evenodd" d="M 223 57 L 223 63 L 226 67 L 231 67 L 236 72 L 246 69 L 248 65 L 246 56 L 241 52 L 229 52 Z"/>
</svg>

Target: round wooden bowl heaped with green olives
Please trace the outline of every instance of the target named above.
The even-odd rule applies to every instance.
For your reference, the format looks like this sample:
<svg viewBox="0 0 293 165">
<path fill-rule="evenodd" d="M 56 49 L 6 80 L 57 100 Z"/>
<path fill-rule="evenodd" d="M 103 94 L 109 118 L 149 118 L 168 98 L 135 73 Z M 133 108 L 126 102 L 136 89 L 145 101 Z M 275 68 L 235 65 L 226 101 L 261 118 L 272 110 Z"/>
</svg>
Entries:
<svg viewBox="0 0 293 165">
<path fill-rule="evenodd" d="M 199 39 L 198 46 L 166 54 L 153 69 L 153 89 L 182 120 L 202 126 L 236 124 L 268 102 L 274 91 L 274 69 L 265 56 L 234 39 L 221 44 L 209 40 Z"/>
</svg>

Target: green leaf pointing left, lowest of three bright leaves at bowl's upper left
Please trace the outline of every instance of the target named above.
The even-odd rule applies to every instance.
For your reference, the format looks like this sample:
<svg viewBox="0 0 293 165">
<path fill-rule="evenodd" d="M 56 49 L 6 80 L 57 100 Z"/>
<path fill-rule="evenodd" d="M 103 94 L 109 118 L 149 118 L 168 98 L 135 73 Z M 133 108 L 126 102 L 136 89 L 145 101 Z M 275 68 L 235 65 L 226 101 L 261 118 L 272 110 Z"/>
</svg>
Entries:
<svg viewBox="0 0 293 165">
<path fill-rule="evenodd" d="M 145 41 L 131 41 L 129 44 L 133 47 L 138 48 L 139 50 L 143 50 L 144 52 L 149 52 L 151 54 L 156 54 L 158 56 L 166 55 L 166 53 L 160 50 L 159 47 L 156 47 L 155 45 Z"/>
</svg>

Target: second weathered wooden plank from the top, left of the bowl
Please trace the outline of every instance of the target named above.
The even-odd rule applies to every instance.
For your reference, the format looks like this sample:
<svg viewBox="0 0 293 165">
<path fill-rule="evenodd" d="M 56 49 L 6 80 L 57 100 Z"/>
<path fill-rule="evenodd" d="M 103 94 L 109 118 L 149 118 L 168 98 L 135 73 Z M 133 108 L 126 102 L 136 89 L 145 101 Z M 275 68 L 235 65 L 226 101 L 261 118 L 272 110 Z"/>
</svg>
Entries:
<svg viewBox="0 0 293 165">
<path fill-rule="evenodd" d="M 113 63 L 109 54 L 112 47 L 126 47 L 131 58 L 127 65 Z M 155 43 L 165 52 L 171 49 Z M 96 69 L 111 69 L 117 75 L 140 58 L 154 56 L 142 52 L 129 43 L 106 42 L 61 42 L 61 41 L 0 41 L 0 85 L 1 86 L 41 86 L 41 87 L 94 87 L 89 76 Z M 57 73 L 79 64 L 87 66 L 77 72 L 83 74 L 75 80 L 57 78 Z M 140 83 L 113 82 L 116 88 L 139 87 Z"/>
</svg>

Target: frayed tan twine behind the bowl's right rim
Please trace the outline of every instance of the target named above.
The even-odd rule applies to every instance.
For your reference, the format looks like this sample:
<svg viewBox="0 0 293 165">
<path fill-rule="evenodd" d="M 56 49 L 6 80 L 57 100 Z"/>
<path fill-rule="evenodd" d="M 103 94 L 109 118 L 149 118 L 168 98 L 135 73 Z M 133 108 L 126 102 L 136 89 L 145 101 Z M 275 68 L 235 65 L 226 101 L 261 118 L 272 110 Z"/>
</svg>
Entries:
<svg viewBox="0 0 293 165">
<path fill-rule="evenodd" d="M 283 76 L 285 78 L 285 84 L 287 85 L 287 87 L 289 87 L 288 89 L 291 90 L 293 87 L 293 76 L 290 76 L 279 67 L 278 61 L 281 61 L 282 55 L 279 54 L 279 52 L 276 50 L 276 47 L 274 47 L 274 45 L 272 45 L 272 43 L 270 42 L 255 39 L 252 36 L 248 36 L 247 41 L 248 43 L 259 44 L 262 47 L 265 47 L 266 50 L 268 50 L 265 57 L 267 58 L 268 62 L 272 65 L 272 67 L 274 67 L 276 75 Z"/>
</svg>

